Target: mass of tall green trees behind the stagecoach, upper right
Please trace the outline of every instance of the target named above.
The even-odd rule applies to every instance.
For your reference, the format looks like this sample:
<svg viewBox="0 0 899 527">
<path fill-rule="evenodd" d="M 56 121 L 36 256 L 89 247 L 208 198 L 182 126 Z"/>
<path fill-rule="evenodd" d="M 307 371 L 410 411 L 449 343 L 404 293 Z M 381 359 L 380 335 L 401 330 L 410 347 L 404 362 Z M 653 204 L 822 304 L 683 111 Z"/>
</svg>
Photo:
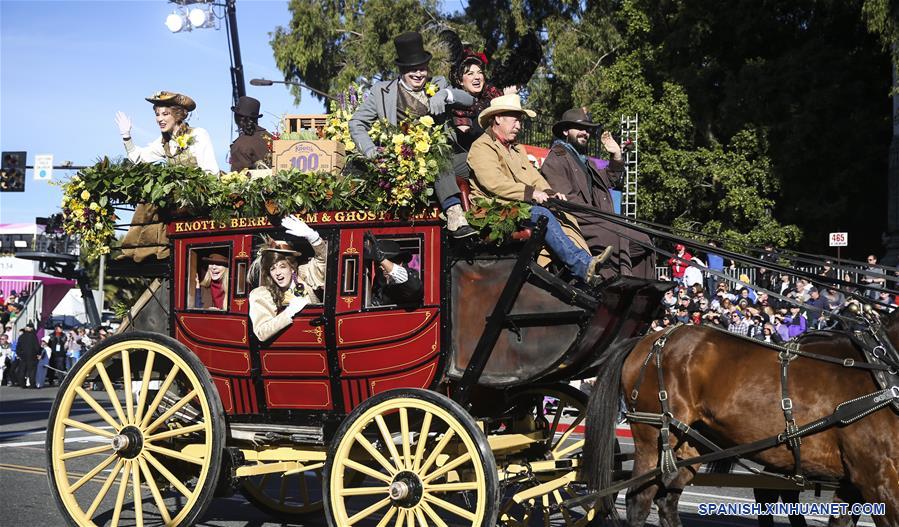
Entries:
<svg viewBox="0 0 899 527">
<path fill-rule="evenodd" d="M 435 5 L 294 0 L 276 60 L 336 91 L 395 75 L 403 31 L 424 33 L 440 73 L 443 25 L 494 61 L 537 30 L 530 107 L 551 120 L 587 106 L 613 132 L 639 114 L 641 217 L 808 250 L 828 231 L 852 231 L 860 251 L 880 243 L 895 1 L 469 0 L 445 19 Z"/>
</svg>

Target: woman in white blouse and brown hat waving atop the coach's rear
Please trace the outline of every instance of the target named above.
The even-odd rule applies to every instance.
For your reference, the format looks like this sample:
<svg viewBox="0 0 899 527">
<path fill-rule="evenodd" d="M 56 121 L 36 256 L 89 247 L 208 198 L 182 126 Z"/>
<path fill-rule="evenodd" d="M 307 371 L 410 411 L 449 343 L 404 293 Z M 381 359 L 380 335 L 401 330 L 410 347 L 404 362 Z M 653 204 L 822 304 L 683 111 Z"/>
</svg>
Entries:
<svg viewBox="0 0 899 527">
<path fill-rule="evenodd" d="M 191 128 L 187 124 L 190 112 L 197 103 L 186 95 L 175 92 L 156 92 L 147 101 L 153 103 L 160 137 L 145 147 L 139 147 L 131 139 L 131 118 L 116 112 L 115 121 L 125 144 L 125 152 L 133 163 L 164 161 L 172 165 L 197 166 L 211 173 L 218 173 L 215 150 L 209 132 Z M 159 211 L 152 205 L 141 204 L 134 211 L 132 223 L 122 240 L 122 256 L 140 262 L 148 256 L 165 259 L 169 255 L 165 225 L 159 221 Z M 140 225 L 144 224 L 144 225 Z"/>
</svg>

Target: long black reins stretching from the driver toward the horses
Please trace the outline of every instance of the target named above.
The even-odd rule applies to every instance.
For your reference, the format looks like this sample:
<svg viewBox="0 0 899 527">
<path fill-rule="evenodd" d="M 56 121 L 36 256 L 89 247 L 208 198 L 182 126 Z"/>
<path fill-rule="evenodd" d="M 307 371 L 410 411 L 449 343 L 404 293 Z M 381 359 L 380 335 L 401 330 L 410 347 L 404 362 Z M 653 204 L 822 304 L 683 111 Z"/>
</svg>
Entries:
<svg viewBox="0 0 899 527">
<path fill-rule="evenodd" d="M 703 246 L 703 244 L 702 244 L 701 242 L 697 242 L 696 240 L 682 239 L 682 238 L 679 238 L 679 237 L 674 236 L 674 235 L 671 234 L 671 233 L 668 233 L 668 232 L 665 232 L 665 231 L 661 231 L 661 230 L 658 230 L 658 229 L 654 229 L 654 228 L 648 227 L 648 226 L 645 225 L 645 223 L 648 223 L 648 222 L 644 222 L 644 221 L 642 221 L 642 220 L 636 220 L 636 221 L 633 220 L 633 219 L 630 219 L 630 220 L 624 220 L 624 219 L 620 218 L 617 214 L 609 214 L 609 213 L 605 213 L 605 212 L 602 212 L 602 211 L 600 211 L 599 209 L 596 209 L 596 208 L 594 208 L 594 207 L 588 207 L 588 206 L 585 206 L 585 205 L 574 204 L 574 203 L 567 202 L 567 201 L 560 201 L 560 200 L 556 200 L 556 199 L 550 199 L 550 200 L 549 200 L 549 203 L 550 203 L 551 205 L 553 205 L 554 207 L 557 207 L 557 208 L 562 209 L 562 210 L 566 210 L 566 211 L 570 211 L 570 212 L 578 212 L 578 213 L 581 213 L 581 214 L 583 214 L 583 213 L 593 214 L 594 216 L 603 218 L 603 219 L 605 219 L 605 220 L 609 220 L 609 221 L 611 221 L 611 222 L 613 222 L 613 223 L 616 223 L 616 224 L 619 224 L 619 225 L 622 225 L 622 226 L 627 226 L 627 227 L 629 227 L 629 228 L 632 228 L 632 229 L 635 229 L 635 230 L 638 230 L 638 231 L 642 231 L 642 232 L 644 232 L 645 234 L 648 234 L 648 235 L 651 235 L 651 236 L 656 236 L 656 237 L 661 237 L 661 238 L 666 238 L 666 239 L 676 240 L 676 241 L 679 241 L 679 242 L 683 242 L 684 244 L 689 244 L 689 245 L 696 246 L 696 247 L 702 247 L 702 246 Z M 662 256 L 669 257 L 669 258 L 678 258 L 678 256 L 677 256 L 676 254 L 674 254 L 673 252 L 671 252 L 671 251 L 666 251 L 666 250 L 664 250 L 664 249 L 660 249 L 660 248 L 658 248 L 658 247 L 656 247 L 656 246 L 653 246 L 653 245 L 651 245 L 651 244 L 646 244 L 646 243 L 644 243 L 644 242 L 641 242 L 640 240 L 635 239 L 634 237 L 628 236 L 627 234 L 621 233 L 620 236 L 622 236 L 623 238 L 628 239 L 628 240 L 631 241 L 631 242 L 634 242 L 634 243 L 637 243 L 637 244 L 643 246 L 643 247 L 646 248 L 647 250 L 653 251 L 653 252 L 655 252 L 655 253 L 657 253 L 657 254 L 660 254 L 660 255 L 662 255 Z M 782 265 L 780 265 L 780 264 L 778 264 L 778 263 L 775 263 L 775 262 L 768 262 L 768 261 L 762 260 L 762 259 L 760 259 L 760 258 L 756 258 L 756 257 L 753 257 L 753 256 L 747 256 L 747 255 L 739 254 L 739 253 L 736 253 L 736 252 L 733 252 L 733 251 L 729 251 L 729 250 L 726 250 L 726 249 L 723 249 L 723 248 L 716 248 L 716 249 L 715 249 L 715 252 L 718 253 L 718 254 L 721 254 L 722 256 L 725 256 L 725 257 L 727 257 L 727 258 L 733 259 L 733 260 L 745 261 L 745 262 L 747 262 L 747 263 L 756 265 L 756 266 L 758 266 L 758 267 L 765 267 L 765 268 L 768 268 L 768 269 L 770 269 L 770 270 L 772 270 L 772 271 L 775 271 L 775 272 L 779 272 L 779 273 L 783 273 L 783 274 L 794 275 L 794 276 L 799 276 L 799 277 L 802 277 L 802 278 L 806 278 L 806 279 L 808 279 L 810 282 L 813 282 L 813 283 L 815 283 L 815 282 L 820 283 L 820 282 L 824 281 L 824 280 L 822 280 L 822 279 L 825 278 L 825 277 L 821 277 L 821 276 L 817 276 L 817 275 L 812 275 L 812 274 L 810 274 L 810 273 L 806 273 L 806 272 L 801 271 L 801 270 L 798 270 L 798 269 L 793 269 L 793 268 L 785 267 L 785 266 L 782 266 Z M 788 304 L 801 305 L 801 307 L 803 307 L 803 308 L 805 308 L 805 309 L 811 309 L 811 310 L 814 310 L 814 311 L 818 311 L 818 312 L 824 313 L 824 314 L 828 315 L 829 317 L 835 318 L 835 319 L 838 319 L 838 320 L 841 320 L 841 321 L 844 322 L 844 323 L 848 323 L 848 324 L 858 324 L 858 323 L 862 323 L 862 324 L 866 324 L 866 325 L 869 324 L 869 321 L 868 321 L 865 317 L 858 317 L 858 316 L 855 316 L 855 315 L 847 316 L 847 315 L 842 315 L 842 314 L 832 313 L 832 312 L 830 312 L 829 310 L 826 310 L 826 309 L 821 309 L 821 308 L 818 308 L 818 307 L 815 307 L 815 306 L 810 306 L 810 305 L 807 305 L 807 304 L 801 304 L 801 303 L 798 303 L 795 299 L 791 299 L 791 298 L 786 297 L 786 296 L 783 296 L 783 295 L 781 295 L 781 294 L 779 294 L 779 293 L 775 293 L 774 291 L 765 289 L 764 287 L 760 287 L 760 286 L 758 286 L 758 285 L 756 285 L 756 284 L 750 284 L 750 283 L 744 282 L 744 281 L 742 281 L 742 280 L 735 279 L 735 278 L 730 277 L 730 276 L 728 276 L 728 275 L 726 275 L 726 274 L 724 274 L 724 273 L 721 273 L 721 272 L 719 272 L 719 271 L 715 271 L 715 270 L 709 269 L 708 267 L 703 267 L 703 266 L 696 265 L 694 262 L 686 262 L 686 261 L 685 261 L 685 263 L 689 264 L 691 267 L 696 267 L 697 269 L 701 269 L 702 271 L 705 271 L 705 272 L 707 272 L 707 273 L 709 273 L 709 274 L 712 274 L 712 275 L 714 275 L 714 276 L 718 276 L 718 277 L 723 278 L 723 279 L 725 279 L 725 280 L 734 282 L 734 283 L 736 283 L 736 284 L 740 284 L 740 285 L 742 285 L 743 287 L 747 287 L 747 288 L 754 289 L 754 290 L 757 290 L 757 291 L 763 291 L 763 292 L 767 293 L 768 296 L 770 296 L 770 297 L 772 297 L 772 298 L 776 298 L 776 299 L 781 300 L 781 301 L 783 301 L 783 302 L 786 302 L 786 303 L 788 303 Z M 878 275 L 878 276 L 880 276 L 880 275 Z M 840 290 L 841 292 L 843 292 L 844 294 L 846 294 L 846 295 L 848 295 L 848 296 L 852 296 L 853 298 L 856 298 L 856 299 L 858 299 L 859 301 L 861 301 L 861 302 L 863 302 L 863 303 L 885 305 L 885 304 L 883 304 L 883 303 L 881 303 L 881 302 L 878 302 L 878 301 L 876 301 L 876 300 L 872 300 L 872 299 L 870 299 L 870 298 L 863 297 L 862 295 L 859 295 L 859 294 L 856 293 L 855 291 L 851 291 L 851 290 L 844 289 L 844 287 L 852 287 L 852 288 L 858 287 L 858 284 L 853 284 L 853 283 L 850 283 L 850 282 L 846 282 L 846 281 L 843 281 L 843 280 L 840 280 L 840 279 L 834 279 L 834 278 L 827 278 L 826 281 L 831 282 L 831 283 L 833 283 L 833 284 L 838 284 L 839 286 L 842 286 L 842 287 L 839 287 L 839 290 Z"/>
</svg>

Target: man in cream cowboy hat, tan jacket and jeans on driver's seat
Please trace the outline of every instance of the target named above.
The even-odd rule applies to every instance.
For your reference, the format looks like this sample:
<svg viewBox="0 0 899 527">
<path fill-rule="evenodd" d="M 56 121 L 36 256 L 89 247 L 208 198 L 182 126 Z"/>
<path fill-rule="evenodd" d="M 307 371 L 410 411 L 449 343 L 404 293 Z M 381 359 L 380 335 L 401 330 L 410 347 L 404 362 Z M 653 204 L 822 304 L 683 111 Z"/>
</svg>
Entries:
<svg viewBox="0 0 899 527">
<path fill-rule="evenodd" d="M 474 173 L 472 194 L 506 201 L 536 202 L 531 207 L 531 221 L 536 222 L 540 216 L 549 221 L 546 244 L 550 250 L 573 275 L 594 284 L 598 282 L 599 269 L 609 258 L 611 248 L 591 256 L 578 230 L 577 220 L 567 214 L 557 218 L 540 206 L 550 198 L 564 200 L 565 195 L 543 179 L 528 160 L 524 148 L 515 142 L 525 115 L 534 117 L 536 113 L 523 109 L 517 94 L 494 98 L 478 115 L 478 122 L 485 132 L 472 143 L 468 152 L 468 165 Z"/>
</svg>

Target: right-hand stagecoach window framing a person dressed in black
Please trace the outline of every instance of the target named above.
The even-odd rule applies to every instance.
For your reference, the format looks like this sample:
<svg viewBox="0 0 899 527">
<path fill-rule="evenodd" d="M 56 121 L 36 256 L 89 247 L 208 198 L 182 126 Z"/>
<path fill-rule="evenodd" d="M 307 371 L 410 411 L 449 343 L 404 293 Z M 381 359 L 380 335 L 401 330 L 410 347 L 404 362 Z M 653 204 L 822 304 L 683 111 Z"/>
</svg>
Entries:
<svg viewBox="0 0 899 527">
<path fill-rule="evenodd" d="M 393 242 L 390 244 L 392 246 L 382 245 L 382 250 L 386 249 L 385 253 L 388 253 L 388 259 L 394 265 L 403 267 L 400 274 L 404 274 L 407 280 L 402 284 L 395 283 L 393 279 L 387 277 L 385 266 L 366 259 L 363 266 L 365 307 L 420 306 L 423 298 L 421 273 L 425 258 L 422 238 L 420 236 L 377 238 L 379 243 L 381 240 Z"/>
</svg>

